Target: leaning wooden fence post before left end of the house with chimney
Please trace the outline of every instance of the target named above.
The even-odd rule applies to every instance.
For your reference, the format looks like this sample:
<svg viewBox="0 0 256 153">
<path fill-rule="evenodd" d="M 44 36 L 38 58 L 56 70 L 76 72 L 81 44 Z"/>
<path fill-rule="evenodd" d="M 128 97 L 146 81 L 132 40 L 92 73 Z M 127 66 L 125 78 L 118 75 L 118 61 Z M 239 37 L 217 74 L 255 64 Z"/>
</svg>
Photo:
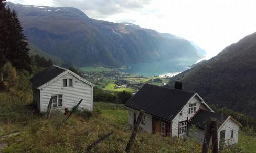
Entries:
<svg viewBox="0 0 256 153">
<path fill-rule="evenodd" d="M 139 126 L 140 126 L 140 123 L 141 123 L 141 120 L 143 118 L 144 113 L 145 113 L 145 111 L 140 110 L 139 116 L 138 116 L 138 118 L 136 120 L 136 123 L 134 125 L 134 128 L 133 128 L 131 137 L 130 137 L 130 139 L 129 139 L 128 143 L 127 143 L 127 146 L 125 148 L 125 152 L 130 152 L 130 150 L 131 150 L 131 147 L 132 147 L 133 142 L 135 140 L 135 137 L 136 137 L 136 134 L 138 132 L 138 129 L 139 129 Z"/>
</svg>

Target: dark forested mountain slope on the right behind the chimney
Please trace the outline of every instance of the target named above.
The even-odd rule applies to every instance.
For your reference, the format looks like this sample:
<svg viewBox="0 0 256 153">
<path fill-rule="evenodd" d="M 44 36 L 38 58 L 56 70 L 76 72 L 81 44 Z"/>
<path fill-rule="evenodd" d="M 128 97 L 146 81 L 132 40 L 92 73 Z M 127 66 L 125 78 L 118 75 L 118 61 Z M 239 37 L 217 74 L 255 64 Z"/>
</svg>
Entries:
<svg viewBox="0 0 256 153">
<path fill-rule="evenodd" d="M 209 104 L 256 115 L 256 33 L 175 77 Z M 174 79 L 173 79 L 174 80 Z M 172 87 L 173 82 L 167 86 Z"/>
</svg>

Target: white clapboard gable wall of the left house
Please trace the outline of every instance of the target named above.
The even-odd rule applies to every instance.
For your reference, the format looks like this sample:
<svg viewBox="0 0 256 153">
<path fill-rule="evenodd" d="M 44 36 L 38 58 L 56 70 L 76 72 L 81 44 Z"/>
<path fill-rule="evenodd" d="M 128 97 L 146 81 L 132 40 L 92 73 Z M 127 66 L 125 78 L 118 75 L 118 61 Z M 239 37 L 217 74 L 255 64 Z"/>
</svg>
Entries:
<svg viewBox="0 0 256 153">
<path fill-rule="evenodd" d="M 62 79 L 73 79 L 73 87 L 62 87 Z M 58 109 L 64 109 L 65 107 L 72 109 L 81 99 L 83 99 L 79 108 L 92 110 L 92 94 L 93 86 L 90 86 L 70 73 L 67 73 L 40 90 L 40 111 L 45 112 L 47 110 L 52 95 L 63 95 L 63 106 L 58 107 Z"/>
</svg>

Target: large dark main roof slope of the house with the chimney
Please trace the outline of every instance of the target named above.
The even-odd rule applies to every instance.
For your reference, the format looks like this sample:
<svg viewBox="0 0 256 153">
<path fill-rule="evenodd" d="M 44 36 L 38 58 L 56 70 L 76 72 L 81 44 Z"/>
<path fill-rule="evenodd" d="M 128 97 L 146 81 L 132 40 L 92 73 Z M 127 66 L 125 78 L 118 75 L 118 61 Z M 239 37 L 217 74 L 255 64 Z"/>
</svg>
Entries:
<svg viewBox="0 0 256 153">
<path fill-rule="evenodd" d="M 194 95 L 193 92 L 145 84 L 125 106 L 172 121 Z"/>
</svg>

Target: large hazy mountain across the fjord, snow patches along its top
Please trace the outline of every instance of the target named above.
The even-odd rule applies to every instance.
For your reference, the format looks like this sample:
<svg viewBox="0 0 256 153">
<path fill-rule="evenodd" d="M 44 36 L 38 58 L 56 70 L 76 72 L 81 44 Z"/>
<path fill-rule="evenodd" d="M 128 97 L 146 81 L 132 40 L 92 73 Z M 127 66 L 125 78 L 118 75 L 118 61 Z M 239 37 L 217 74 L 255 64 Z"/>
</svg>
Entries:
<svg viewBox="0 0 256 153">
<path fill-rule="evenodd" d="M 189 41 L 170 39 L 130 23 L 90 19 L 69 7 L 8 3 L 22 21 L 28 41 L 76 66 L 110 67 L 172 58 L 199 59 Z"/>
</svg>

